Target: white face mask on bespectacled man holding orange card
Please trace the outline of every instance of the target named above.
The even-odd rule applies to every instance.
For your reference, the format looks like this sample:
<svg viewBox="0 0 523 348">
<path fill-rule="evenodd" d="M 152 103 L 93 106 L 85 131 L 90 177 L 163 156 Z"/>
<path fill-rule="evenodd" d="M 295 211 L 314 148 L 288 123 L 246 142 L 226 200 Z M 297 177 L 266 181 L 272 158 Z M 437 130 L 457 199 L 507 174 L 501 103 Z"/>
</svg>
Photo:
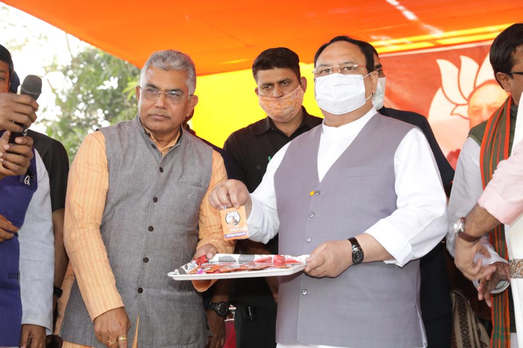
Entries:
<svg viewBox="0 0 523 348">
<path fill-rule="evenodd" d="M 316 77 L 314 90 L 318 106 L 334 115 L 341 115 L 360 108 L 372 96 L 371 94 L 365 98 L 363 78 L 369 75 L 370 73 L 365 76 L 336 73 Z"/>
</svg>

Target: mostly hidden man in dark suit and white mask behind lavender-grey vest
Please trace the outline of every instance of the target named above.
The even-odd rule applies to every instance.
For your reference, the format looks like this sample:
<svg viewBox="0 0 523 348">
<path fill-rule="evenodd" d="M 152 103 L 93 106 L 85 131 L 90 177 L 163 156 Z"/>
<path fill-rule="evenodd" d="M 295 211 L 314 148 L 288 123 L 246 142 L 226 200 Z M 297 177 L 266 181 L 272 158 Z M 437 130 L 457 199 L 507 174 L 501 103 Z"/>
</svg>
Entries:
<svg viewBox="0 0 523 348">
<path fill-rule="evenodd" d="M 372 96 L 372 104 L 384 116 L 417 126 L 427 138 L 438 165 L 439 175 L 447 195 L 450 195 L 454 169 L 441 151 L 436 137 L 423 115 L 383 106 L 385 97 L 385 73 L 376 49 L 369 43 L 374 56 L 374 71 L 378 73 L 378 85 Z M 450 345 L 452 329 L 452 303 L 450 300 L 450 279 L 445 258 L 445 245 L 438 243 L 436 247 L 419 261 L 421 273 L 420 305 L 429 347 L 447 347 Z"/>
</svg>

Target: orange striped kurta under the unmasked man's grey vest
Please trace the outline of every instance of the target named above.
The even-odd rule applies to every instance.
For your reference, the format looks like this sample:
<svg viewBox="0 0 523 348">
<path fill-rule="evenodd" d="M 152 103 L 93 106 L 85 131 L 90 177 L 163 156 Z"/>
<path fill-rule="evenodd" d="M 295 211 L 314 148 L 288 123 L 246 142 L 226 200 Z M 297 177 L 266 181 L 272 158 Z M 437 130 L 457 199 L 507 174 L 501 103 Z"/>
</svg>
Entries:
<svg viewBox="0 0 523 348">
<path fill-rule="evenodd" d="M 151 135 L 150 137 L 156 143 L 162 156 L 177 141 L 175 138 L 167 146 L 161 147 L 154 137 Z M 208 201 L 210 191 L 226 179 L 223 159 L 220 154 L 213 151 L 211 181 L 200 206 L 198 248 L 211 243 L 218 249 L 218 252 L 231 253 L 234 250 L 234 242 L 223 240 L 220 213 Z M 85 137 L 71 166 L 64 219 L 65 248 L 92 320 L 108 310 L 123 307 L 123 301 L 116 288 L 115 276 L 112 273 L 100 234 L 108 189 L 109 170 L 105 138 L 101 132 L 94 132 Z M 203 291 L 211 285 L 211 282 L 194 282 L 194 285 L 198 291 Z M 133 348 L 138 346 L 137 337 L 135 335 Z M 63 347 L 85 346 L 64 342 Z"/>
</svg>

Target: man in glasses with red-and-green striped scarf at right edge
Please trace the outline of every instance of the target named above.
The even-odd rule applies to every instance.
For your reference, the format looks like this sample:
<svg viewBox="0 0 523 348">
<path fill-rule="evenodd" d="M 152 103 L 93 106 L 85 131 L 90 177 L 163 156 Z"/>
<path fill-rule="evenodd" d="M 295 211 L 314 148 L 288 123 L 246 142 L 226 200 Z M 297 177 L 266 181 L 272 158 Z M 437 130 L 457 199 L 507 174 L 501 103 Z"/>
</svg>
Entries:
<svg viewBox="0 0 523 348">
<path fill-rule="evenodd" d="M 494 39 L 490 49 L 490 62 L 498 84 L 510 95 L 490 119 L 470 130 L 469 137 L 463 144 L 449 200 L 447 248 L 451 254 L 461 251 L 462 260 L 458 257 L 456 264 L 469 279 L 480 280 L 483 284 L 479 288 L 480 297 L 485 298 L 492 306 L 492 346 L 517 347 L 518 342 L 523 341 L 523 325 L 516 322 L 523 311 L 519 298 L 522 295 L 518 292 L 518 288 L 522 286 L 518 279 L 523 274 L 517 266 L 521 260 L 518 253 L 514 253 L 515 249 L 507 250 L 506 240 L 513 241 L 505 235 L 508 225 L 497 225 L 480 239 L 476 238 L 475 231 L 468 234 L 465 216 L 476 205 L 483 189 L 495 179 L 493 173 L 498 165 L 514 154 L 512 149 L 523 91 L 522 23 L 511 25 Z M 512 227 L 510 234 L 516 230 L 523 234 L 520 229 Z M 490 257 L 476 255 L 478 247 L 484 247 Z M 480 266 L 474 262 L 477 258 L 483 259 Z M 511 283 L 514 282 L 511 290 L 507 289 L 509 274 L 506 272 L 506 264 L 509 262 L 510 278 L 513 279 Z M 491 294 L 497 295 L 491 297 Z M 518 296 L 518 299 L 513 296 Z"/>
</svg>

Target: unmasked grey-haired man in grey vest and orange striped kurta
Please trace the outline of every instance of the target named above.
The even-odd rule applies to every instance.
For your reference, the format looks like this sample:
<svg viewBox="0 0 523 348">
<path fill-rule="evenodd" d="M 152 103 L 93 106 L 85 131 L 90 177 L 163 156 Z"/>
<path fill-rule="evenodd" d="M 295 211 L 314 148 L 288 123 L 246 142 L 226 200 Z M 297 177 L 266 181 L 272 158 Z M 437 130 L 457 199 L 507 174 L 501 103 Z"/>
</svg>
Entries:
<svg viewBox="0 0 523 348">
<path fill-rule="evenodd" d="M 86 136 L 73 161 L 64 243 L 75 273 L 64 347 L 202 348 L 202 291 L 173 282 L 193 256 L 230 253 L 210 190 L 226 179 L 222 157 L 182 124 L 198 102 L 196 71 L 182 52 L 154 52 L 136 88 L 132 121 Z"/>
</svg>

